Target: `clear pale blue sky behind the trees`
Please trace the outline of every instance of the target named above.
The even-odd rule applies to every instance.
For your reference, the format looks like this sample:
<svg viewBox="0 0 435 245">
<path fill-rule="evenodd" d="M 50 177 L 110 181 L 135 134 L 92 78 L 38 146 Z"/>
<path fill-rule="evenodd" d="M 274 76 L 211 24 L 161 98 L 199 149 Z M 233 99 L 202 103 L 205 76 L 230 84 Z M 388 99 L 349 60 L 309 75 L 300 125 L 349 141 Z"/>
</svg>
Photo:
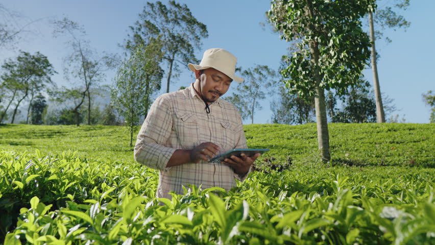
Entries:
<svg viewBox="0 0 435 245">
<path fill-rule="evenodd" d="M 154 1 L 152 1 L 154 2 Z M 162 1 L 167 3 L 167 1 Z M 287 54 L 289 43 L 280 39 L 279 34 L 271 31 L 266 22 L 265 12 L 270 8 L 269 1 L 261 0 L 222 0 L 222 1 L 178 1 L 186 4 L 199 21 L 207 26 L 209 37 L 202 40 L 203 45 L 196 51 L 198 59 L 211 47 L 221 47 L 234 54 L 237 66 L 246 69 L 255 65 L 268 65 L 278 70 L 282 55 Z M 394 2 L 384 0 L 383 2 Z M 0 49 L 0 62 L 16 57 L 19 50 L 47 56 L 58 72 L 53 80 L 58 86 L 75 86 L 69 84 L 63 76 L 63 59 L 70 53 L 65 44 L 66 39 L 53 37 L 52 20 L 67 17 L 81 24 L 86 30 L 86 38 L 96 52 L 118 53 L 129 33 L 128 27 L 138 20 L 147 1 L 114 0 L 2 0 L 1 4 L 20 17 L 15 18 L 17 26 L 30 23 L 22 32 L 21 38 L 14 46 Z M 425 106 L 422 94 L 435 90 L 435 1 L 411 1 L 411 5 L 402 12 L 411 22 L 404 31 L 398 29 L 384 30 L 384 35 L 393 41 L 386 43 L 379 40 L 376 48 L 380 55 L 378 61 L 379 83 L 381 92 L 393 99 L 398 109 L 399 119 L 412 123 L 428 123 L 430 108 Z M 1 14 L 1 13 L 0 13 Z M 2 17 L 2 16 L 0 16 Z M 0 18 L 0 20 L 2 20 Z M 164 67 L 165 68 L 165 67 Z M 180 66 L 182 73 L 170 87 L 176 91 L 180 86 L 194 82 L 194 75 L 187 64 Z M 365 78 L 373 84 L 371 69 L 364 70 Z M 115 71 L 109 71 L 104 84 L 113 84 Z M 162 90 L 166 91 L 166 78 L 162 81 Z M 230 95 L 235 85 L 225 95 Z M 225 99 L 225 95 L 223 99 Z M 261 102 L 263 109 L 255 112 L 254 124 L 270 123 L 272 112 L 268 97 Z M 251 120 L 244 120 L 249 124 Z"/>
</svg>

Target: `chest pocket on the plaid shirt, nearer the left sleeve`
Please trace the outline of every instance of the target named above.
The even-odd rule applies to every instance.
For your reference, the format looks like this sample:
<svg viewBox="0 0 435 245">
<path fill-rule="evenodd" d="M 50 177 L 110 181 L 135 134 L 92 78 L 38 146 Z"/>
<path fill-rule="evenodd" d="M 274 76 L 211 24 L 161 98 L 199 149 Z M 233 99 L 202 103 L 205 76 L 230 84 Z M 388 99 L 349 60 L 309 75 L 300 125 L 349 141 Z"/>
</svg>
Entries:
<svg viewBox="0 0 435 245">
<path fill-rule="evenodd" d="M 199 121 L 195 114 L 189 112 L 176 112 L 174 118 L 174 130 L 177 133 L 178 142 L 184 150 L 191 150 L 198 145 Z"/>
</svg>

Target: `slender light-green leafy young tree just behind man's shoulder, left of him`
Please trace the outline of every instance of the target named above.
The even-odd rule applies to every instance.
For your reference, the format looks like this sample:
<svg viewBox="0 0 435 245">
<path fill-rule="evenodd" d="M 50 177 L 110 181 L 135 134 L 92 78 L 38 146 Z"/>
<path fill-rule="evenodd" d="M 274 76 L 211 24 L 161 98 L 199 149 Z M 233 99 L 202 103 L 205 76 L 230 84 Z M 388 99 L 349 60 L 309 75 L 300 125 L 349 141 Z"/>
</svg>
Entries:
<svg viewBox="0 0 435 245">
<path fill-rule="evenodd" d="M 161 55 L 156 42 L 146 47 L 138 45 L 130 58 L 118 68 L 111 97 L 114 107 L 126 120 L 130 146 L 140 116 L 147 117 L 151 95 L 160 89 L 163 76 L 159 66 Z"/>
</svg>

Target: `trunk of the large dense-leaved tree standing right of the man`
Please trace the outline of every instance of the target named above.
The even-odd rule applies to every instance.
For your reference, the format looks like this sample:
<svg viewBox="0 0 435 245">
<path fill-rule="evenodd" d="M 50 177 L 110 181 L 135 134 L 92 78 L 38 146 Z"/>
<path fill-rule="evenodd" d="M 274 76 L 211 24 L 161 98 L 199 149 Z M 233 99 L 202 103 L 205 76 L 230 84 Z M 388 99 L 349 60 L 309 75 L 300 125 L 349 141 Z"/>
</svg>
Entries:
<svg viewBox="0 0 435 245">
<path fill-rule="evenodd" d="M 320 68 L 318 66 L 320 54 L 319 45 L 318 43 L 311 42 L 309 48 L 316 80 L 316 97 L 314 98 L 314 102 L 316 106 L 317 141 L 322 161 L 328 162 L 331 160 L 331 155 L 329 152 L 329 132 L 326 118 L 325 91 L 320 87 L 322 78 L 320 77 Z"/>
</svg>

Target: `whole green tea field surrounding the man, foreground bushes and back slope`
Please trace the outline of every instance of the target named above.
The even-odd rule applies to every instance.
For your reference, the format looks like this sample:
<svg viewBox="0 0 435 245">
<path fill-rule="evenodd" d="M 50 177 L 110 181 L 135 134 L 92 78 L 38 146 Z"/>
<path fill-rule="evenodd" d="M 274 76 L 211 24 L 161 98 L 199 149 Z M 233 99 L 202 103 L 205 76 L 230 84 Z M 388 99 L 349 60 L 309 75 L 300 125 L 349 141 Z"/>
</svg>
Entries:
<svg viewBox="0 0 435 245">
<path fill-rule="evenodd" d="M 123 128 L 0 126 L 0 232 L 5 244 L 433 244 L 434 127 L 330 129 L 323 165 L 314 125 L 246 126 L 251 148 L 271 149 L 257 171 L 168 201 Z"/>
</svg>

